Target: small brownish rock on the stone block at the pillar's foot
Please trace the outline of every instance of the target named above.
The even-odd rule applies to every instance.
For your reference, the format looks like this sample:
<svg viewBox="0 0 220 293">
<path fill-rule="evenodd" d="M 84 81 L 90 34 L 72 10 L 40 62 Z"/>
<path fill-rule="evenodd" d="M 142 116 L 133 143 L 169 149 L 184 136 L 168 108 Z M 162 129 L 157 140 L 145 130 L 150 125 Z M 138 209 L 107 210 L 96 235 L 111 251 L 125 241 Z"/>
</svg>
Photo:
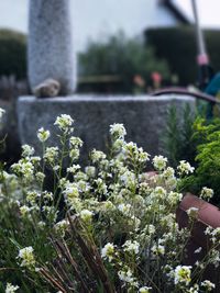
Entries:
<svg viewBox="0 0 220 293">
<path fill-rule="evenodd" d="M 55 79 L 46 79 L 36 86 L 33 93 L 37 98 L 53 98 L 57 97 L 61 90 L 61 83 Z"/>
</svg>

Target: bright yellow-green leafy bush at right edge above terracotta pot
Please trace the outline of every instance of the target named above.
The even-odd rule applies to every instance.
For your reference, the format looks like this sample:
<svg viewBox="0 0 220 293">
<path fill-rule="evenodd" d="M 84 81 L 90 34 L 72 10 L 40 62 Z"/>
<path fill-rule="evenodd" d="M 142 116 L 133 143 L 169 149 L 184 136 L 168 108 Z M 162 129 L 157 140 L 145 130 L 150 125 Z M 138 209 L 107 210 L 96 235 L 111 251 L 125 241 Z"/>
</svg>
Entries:
<svg viewBox="0 0 220 293">
<path fill-rule="evenodd" d="M 220 119 L 207 122 L 197 119 L 194 123 L 194 140 L 197 144 L 196 162 L 198 167 L 183 185 L 185 190 L 199 194 L 202 187 L 213 189 L 211 200 L 220 204 Z"/>
</svg>

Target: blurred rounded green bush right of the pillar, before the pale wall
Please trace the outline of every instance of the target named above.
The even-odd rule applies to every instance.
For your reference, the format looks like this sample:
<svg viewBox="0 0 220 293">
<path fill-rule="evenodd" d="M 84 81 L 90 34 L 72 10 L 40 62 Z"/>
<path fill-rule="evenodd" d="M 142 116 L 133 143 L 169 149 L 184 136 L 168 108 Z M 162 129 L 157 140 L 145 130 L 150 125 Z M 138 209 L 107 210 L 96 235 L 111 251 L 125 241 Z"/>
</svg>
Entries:
<svg viewBox="0 0 220 293">
<path fill-rule="evenodd" d="M 153 48 L 145 48 L 138 40 L 128 40 L 123 33 L 109 38 L 107 43 L 90 43 L 85 53 L 79 54 L 80 77 L 85 76 L 118 76 L 120 82 L 114 83 L 114 92 L 132 92 L 134 76 L 139 75 L 151 82 L 151 74 L 158 71 L 164 79 L 169 76 L 169 69 L 164 60 L 155 58 Z M 82 86 L 79 91 L 84 90 Z M 100 83 L 92 84 L 91 91 L 101 91 Z"/>
</svg>

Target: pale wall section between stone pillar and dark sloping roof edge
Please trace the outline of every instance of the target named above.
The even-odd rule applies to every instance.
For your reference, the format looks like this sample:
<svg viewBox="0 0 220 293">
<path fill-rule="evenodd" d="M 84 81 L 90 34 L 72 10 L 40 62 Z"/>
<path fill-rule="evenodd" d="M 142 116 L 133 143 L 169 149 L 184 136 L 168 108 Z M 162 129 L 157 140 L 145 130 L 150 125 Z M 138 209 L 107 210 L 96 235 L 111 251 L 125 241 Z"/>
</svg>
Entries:
<svg viewBox="0 0 220 293">
<path fill-rule="evenodd" d="M 166 9 L 157 5 L 157 0 L 74 0 L 73 2 L 78 44 L 86 44 L 89 38 L 105 38 L 120 29 L 128 36 L 134 36 L 142 34 L 148 26 L 176 23 Z"/>
</svg>

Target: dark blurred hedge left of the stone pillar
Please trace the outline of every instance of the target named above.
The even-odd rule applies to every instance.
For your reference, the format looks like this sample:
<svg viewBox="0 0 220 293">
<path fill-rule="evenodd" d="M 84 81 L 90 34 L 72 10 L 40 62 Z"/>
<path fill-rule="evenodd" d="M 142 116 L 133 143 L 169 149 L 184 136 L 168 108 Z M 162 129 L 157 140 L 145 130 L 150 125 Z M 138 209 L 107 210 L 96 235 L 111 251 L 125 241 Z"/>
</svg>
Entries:
<svg viewBox="0 0 220 293">
<path fill-rule="evenodd" d="M 26 77 L 26 37 L 11 30 L 0 30 L 0 76 Z"/>
</svg>

